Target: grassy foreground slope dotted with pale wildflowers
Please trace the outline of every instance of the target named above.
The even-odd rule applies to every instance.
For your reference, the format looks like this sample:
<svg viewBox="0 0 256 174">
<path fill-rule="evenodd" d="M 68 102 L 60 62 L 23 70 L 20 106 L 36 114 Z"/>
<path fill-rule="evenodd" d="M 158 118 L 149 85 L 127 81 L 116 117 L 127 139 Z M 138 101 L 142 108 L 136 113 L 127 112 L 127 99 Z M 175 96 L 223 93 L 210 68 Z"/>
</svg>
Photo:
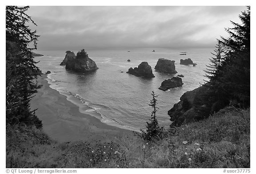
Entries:
<svg viewBox="0 0 256 174">
<path fill-rule="evenodd" d="M 58 143 L 36 128 L 7 128 L 7 168 L 250 168 L 250 109 L 224 108 L 206 120 L 145 142 Z"/>
</svg>

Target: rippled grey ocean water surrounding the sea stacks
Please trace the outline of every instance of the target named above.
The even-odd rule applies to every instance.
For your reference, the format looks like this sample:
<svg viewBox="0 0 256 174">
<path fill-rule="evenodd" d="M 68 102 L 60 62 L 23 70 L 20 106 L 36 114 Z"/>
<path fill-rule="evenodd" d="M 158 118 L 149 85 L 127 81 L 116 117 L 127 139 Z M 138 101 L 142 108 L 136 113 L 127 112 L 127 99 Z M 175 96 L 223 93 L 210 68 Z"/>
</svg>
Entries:
<svg viewBox="0 0 256 174">
<path fill-rule="evenodd" d="M 157 107 L 159 109 L 156 116 L 159 125 L 168 128 L 172 123 L 167 114 L 168 110 L 180 101 L 182 94 L 204 83 L 204 79 L 206 79 L 204 70 L 212 56 L 211 48 L 84 49 L 89 58 L 92 58 L 99 67 L 95 72 L 66 71 L 64 66 L 60 66 L 66 50 L 36 50 L 36 53 L 44 54 L 42 57 L 35 57 L 35 61 L 40 61 L 36 65 L 43 73 L 48 70 L 52 72 L 47 76 L 50 87 L 78 105 L 80 112 L 95 116 L 106 124 L 133 131 L 145 129 L 146 122 L 151 118 L 152 108 L 148 104 L 152 99 L 152 90 L 158 95 Z M 71 51 L 74 51 L 75 54 L 78 52 L 78 50 Z M 180 55 L 180 52 L 187 52 L 187 55 Z M 156 72 L 154 67 L 158 58 L 175 60 L 178 73 Z M 180 65 L 181 58 L 191 58 L 197 65 Z M 131 62 L 128 62 L 128 59 Z M 130 67 L 137 67 L 144 61 L 152 67 L 156 77 L 136 77 L 126 73 Z M 158 89 L 162 81 L 178 74 L 184 75 L 182 87 L 168 91 Z"/>
</svg>

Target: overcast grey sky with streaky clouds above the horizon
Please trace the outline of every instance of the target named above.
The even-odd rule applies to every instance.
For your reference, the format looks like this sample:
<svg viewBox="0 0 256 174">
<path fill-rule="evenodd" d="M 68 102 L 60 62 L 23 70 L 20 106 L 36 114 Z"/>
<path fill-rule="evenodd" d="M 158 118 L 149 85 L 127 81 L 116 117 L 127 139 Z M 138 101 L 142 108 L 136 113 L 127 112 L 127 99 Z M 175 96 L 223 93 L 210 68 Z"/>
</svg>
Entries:
<svg viewBox="0 0 256 174">
<path fill-rule="evenodd" d="M 31 6 L 38 50 L 212 47 L 244 6 Z"/>
</svg>

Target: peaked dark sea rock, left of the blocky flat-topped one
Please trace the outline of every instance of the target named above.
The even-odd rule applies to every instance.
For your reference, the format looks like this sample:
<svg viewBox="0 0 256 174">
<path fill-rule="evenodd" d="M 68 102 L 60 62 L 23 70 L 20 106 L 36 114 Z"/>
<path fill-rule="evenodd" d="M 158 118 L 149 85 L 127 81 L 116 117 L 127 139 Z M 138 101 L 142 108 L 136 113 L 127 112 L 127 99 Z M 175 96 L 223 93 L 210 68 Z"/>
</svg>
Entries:
<svg viewBox="0 0 256 174">
<path fill-rule="evenodd" d="M 150 65 L 148 65 L 148 62 L 141 62 L 140 65 L 137 67 L 129 68 L 128 72 L 129 74 L 135 75 L 135 76 L 144 76 L 144 77 L 155 77 L 152 73 L 152 68 Z"/>
</svg>

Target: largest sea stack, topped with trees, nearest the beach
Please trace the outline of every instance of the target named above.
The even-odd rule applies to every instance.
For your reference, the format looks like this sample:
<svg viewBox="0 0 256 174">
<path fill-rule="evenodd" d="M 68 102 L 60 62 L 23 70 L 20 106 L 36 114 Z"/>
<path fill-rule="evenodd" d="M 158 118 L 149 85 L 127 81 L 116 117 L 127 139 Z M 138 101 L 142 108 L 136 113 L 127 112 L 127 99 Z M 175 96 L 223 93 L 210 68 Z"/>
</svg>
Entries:
<svg viewBox="0 0 256 174">
<path fill-rule="evenodd" d="M 74 53 L 71 51 L 66 51 L 66 53 L 66 70 L 73 70 L 76 72 L 88 72 L 99 69 L 96 66 L 96 63 L 88 57 L 88 54 L 84 51 L 84 49 L 79 51 L 75 57 Z"/>
</svg>

